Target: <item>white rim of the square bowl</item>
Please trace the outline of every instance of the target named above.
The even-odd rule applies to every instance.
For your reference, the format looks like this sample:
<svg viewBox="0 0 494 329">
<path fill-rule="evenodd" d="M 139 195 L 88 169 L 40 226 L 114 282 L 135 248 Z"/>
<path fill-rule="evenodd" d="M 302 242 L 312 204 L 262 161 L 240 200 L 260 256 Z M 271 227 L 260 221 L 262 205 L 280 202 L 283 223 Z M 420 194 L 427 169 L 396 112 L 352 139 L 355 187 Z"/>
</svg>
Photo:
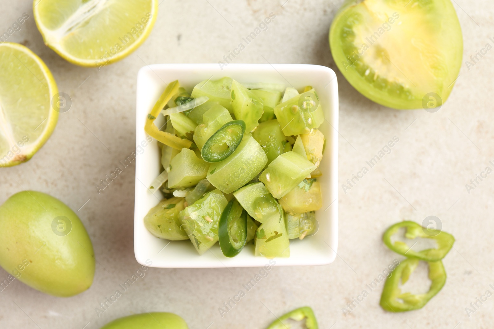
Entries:
<svg viewBox="0 0 494 329">
<path fill-rule="evenodd" d="M 156 77 L 158 77 L 161 81 L 163 81 L 165 84 L 165 80 L 162 79 L 160 74 L 158 73 L 184 73 L 185 74 L 190 74 L 193 76 L 194 74 L 199 74 L 200 72 L 204 71 L 220 71 L 218 72 L 218 75 L 216 78 L 220 78 L 222 76 L 230 76 L 229 73 L 237 72 L 236 74 L 242 74 L 242 73 L 252 73 L 252 72 L 258 72 L 258 71 L 276 71 L 280 76 L 282 76 L 287 82 L 288 80 L 280 73 L 287 73 L 288 71 L 294 73 L 294 74 L 303 74 L 303 73 L 308 73 L 308 72 L 321 72 L 321 73 L 327 73 L 329 77 L 329 82 L 326 84 L 324 89 L 326 90 L 326 87 L 329 86 L 328 91 L 325 92 L 325 94 L 328 95 L 329 100 L 330 100 L 330 110 L 329 115 L 325 111 L 325 118 L 333 128 L 330 133 L 330 138 L 331 141 L 328 143 L 328 146 L 330 146 L 330 171 L 329 171 L 329 190 L 330 190 L 330 195 L 331 203 L 329 206 L 326 208 L 326 210 L 330 209 L 330 223 L 329 223 L 329 236 L 327 237 L 329 239 L 329 243 L 326 242 L 326 238 L 324 239 L 324 242 L 326 245 L 329 247 L 328 253 L 325 255 L 316 255 L 316 256 L 309 256 L 305 257 L 303 261 L 290 261 L 291 257 L 288 258 L 275 258 L 276 265 L 277 266 L 312 266 L 312 265 L 327 265 L 334 261 L 336 258 L 336 253 L 337 253 L 337 242 L 338 242 L 338 87 L 337 87 L 337 78 L 336 74 L 334 73 L 333 70 L 331 70 L 328 67 L 325 66 L 320 66 L 320 65 L 312 65 L 312 64 L 228 64 L 226 66 L 226 69 L 224 70 L 219 63 L 214 64 L 214 63 L 208 63 L 208 64 L 152 64 L 152 65 L 146 65 L 143 66 L 137 74 L 137 85 L 136 85 L 136 146 L 139 145 L 143 141 L 143 137 L 146 137 L 147 134 L 144 132 L 144 124 L 142 124 L 142 117 L 149 113 L 149 106 L 147 106 L 146 110 L 143 109 L 143 105 L 141 104 L 141 99 L 144 96 L 147 90 L 144 90 L 145 86 L 143 84 L 143 81 L 150 79 L 149 76 L 154 76 L 154 79 L 156 80 Z M 240 79 L 239 79 L 240 80 Z M 171 80 L 170 80 L 171 81 Z M 201 78 L 196 79 L 196 83 L 199 83 L 202 81 Z M 156 81 L 155 81 L 156 83 Z M 159 82 L 161 83 L 161 82 Z M 288 82 L 288 84 L 290 84 Z M 288 85 L 286 84 L 286 85 Z M 291 84 L 290 84 L 291 85 Z M 316 90 L 318 92 L 318 95 L 321 94 L 321 91 Z M 154 105 L 156 100 L 152 101 L 152 105 Z M 151 105 L 151 107 L 152 107 Z M 149 136 L 147 136 L 149 138 Z M 156 143 L 156 141 L 153 141 Z M 149 143 L 152 144 L 152 143 Z M 330 144 L 330 145 L 329 145 Z M 157 149 L 158 150 L 158 149 Z M 324 160 L 323 160 L 324 161 Z M 195 259 L 197 259 L 196 256 L 191 256 L 191 259 L 184 259 L 183 261 L 152 261 L 150 260 L 153 257 L 149 256 L 149 253 L 147 253 L 146 250 L 140 246 L 140 242 L 142 242 L 142 236 L 141 236 L 141 231 L 142 228 L 144 227 L 143 221 L 142 221 L 142 215 L 138 214 L 138 210 L 140 208 L 139 204 L 141 199 L 144 197 L 141 195 L 141 189 L 143 186 L 143 183 L 139 181 L 140 173 L 139 170 L 145 167 L 145 164 L 143 164 L 143 159 L 142 157 L 139 157 L 138 155 L 136 156 L 136 167 L 135 167 L 135 208 L 134 208 L 134 235 L 133 235 L 133 240 L 134 240 L 134 255 L 136 257 L 136 260 L 143 265 L 150 266 L 150 267 L 163 267 L 163 268 L 220 268 L 220 267 L 258 267 L 258 266 L 265 266 L 267 263 L 272 264 L 272 261 L 264 258 L 264 257 L 255 257 L 259 259 L 259 261 L 256 262 L 248 262 L 248 263 L 243 263 L 241 261 L 237 261 L 231 266 L 225 265 L 225 262 L 227 261 L 222 261 L 220 258 L 218 258 L 216 255 L 217 259 L 213 259 L 212 261 L 209 262 L 197 262 Z M 147 188 L 147 187 L 146 187 Z M 149 191 L 149 190 L 148 190 Z M 156 202 L 157 204 L 158 202 Z M 142 214 L 142 213 L 141 213 Z M 144 227 L 144 230 L 145 227 Z M 146 230 L 147 231 L 147 230 Z M 148 232 L 149 235 L 151 235 Z M 152 235 L 151 235 L 152 237 Z M 158 239 L 158 238 L 156 238 Z M 158 239 L 160 240 L 160 239 Z M 166 241 L 166 240 L 162 240 Z M 167 242 L 166 246 L 174 241 L 169 241 Z M 174 242 L 176 243 L 176 242 Z M 292 242 L 293 243 L 293 242 Z M 292 244 L 290 243 L 290 245 Z M 165 247 L 166 247 L 165 246 Z M 164 247 L 164 248 L 165 248 Z M 217 244 L 216 244 L 217 247 Z M 219 248 L 218 248 L 219 249 Z M 163 250 L 163 249 L 162 249 Z M 221 252 L 220 252 L 221 253 Z M 235 257 L 237 258 L 237 257 Z M 234 259 L 234 258 L 228 258 L 228 260 Z"/>
</svg>

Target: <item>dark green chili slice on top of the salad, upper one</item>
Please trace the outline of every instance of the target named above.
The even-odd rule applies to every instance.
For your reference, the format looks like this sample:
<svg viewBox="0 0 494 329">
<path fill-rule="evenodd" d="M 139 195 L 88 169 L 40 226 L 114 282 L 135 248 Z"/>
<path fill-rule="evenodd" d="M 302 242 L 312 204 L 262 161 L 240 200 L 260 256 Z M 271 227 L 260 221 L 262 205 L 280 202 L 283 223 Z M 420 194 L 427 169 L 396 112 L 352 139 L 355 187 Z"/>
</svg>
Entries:
<svg viewBox="0 0 494 329">
<path fill-rule="evenodd" d="M 201 155 L 207 162 L 219 162 L 229 157 L 244 137 L 246 123 L 233 120 L 219 128 L 204 144 Z"/>
</svg>

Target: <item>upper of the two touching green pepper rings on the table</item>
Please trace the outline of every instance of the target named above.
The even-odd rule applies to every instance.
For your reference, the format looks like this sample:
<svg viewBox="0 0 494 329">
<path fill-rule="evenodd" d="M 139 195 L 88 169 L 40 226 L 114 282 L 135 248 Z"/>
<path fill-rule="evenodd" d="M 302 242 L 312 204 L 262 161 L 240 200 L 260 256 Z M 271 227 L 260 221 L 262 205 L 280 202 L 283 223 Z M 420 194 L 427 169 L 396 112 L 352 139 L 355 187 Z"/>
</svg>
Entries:
<svg viewBox="0 0 494 329">
<path fill-rule="evenodd" d="M 395 241 L 391 243 L 391 236 L 396 234 L 398 230 L 405 227 L 407 230 L 405 232 L 405 237 L 407 239 L 414 238 L 426 238 L 434 239 L 438 245 L 438 248 L 426 249 L 421 251 L 413 251 L 405 242 Z M 430 232 L 426 234 L 424 230 Z M 428 228 L 422 227 L 414 221 L 402 221 L 390 226 L 382 237 L 382 241 L 388 246 L 389 249 L 403 256 L 409 258 L 418 258 L 425 261 L 438 261 L 444 258 L 446 254 L 451 250 L 454 243 L 453 235 L 439 231 L 430 230 Z"/>
</svg>

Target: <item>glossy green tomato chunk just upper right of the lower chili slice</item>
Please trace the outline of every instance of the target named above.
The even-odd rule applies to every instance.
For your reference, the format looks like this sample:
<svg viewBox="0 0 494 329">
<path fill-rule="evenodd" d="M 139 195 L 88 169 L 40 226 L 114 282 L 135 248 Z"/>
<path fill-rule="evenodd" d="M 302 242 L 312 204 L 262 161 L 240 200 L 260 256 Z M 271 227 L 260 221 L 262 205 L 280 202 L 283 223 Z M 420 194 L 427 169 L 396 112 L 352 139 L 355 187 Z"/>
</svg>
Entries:
<svg viewBox="0 0 494 329">
<path fill-rule="evenodd" d="M 245 185 L 233 192 L 233 195 L 258 222 L 263 223 L 278 213 L 278 203 L 263 183 Z"/>
</svg>

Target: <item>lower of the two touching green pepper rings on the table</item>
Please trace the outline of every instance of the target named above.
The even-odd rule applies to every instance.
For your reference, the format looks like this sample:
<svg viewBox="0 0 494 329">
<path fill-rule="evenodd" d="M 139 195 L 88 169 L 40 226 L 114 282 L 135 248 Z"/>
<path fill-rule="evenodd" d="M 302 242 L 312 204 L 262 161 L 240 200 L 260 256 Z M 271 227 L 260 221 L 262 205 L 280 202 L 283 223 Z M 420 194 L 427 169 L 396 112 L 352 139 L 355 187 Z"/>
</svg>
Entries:
<svg viewBox="0 0 494 329">
<path fill-rule="evenodd" d="M 428 261 L 429 279 L 432 281 L 429 291 L 426 293 L 412 294 L 410 292 L 402 293 L 400 284 L 404 285 L 420 260 L 416 258 L 407 258 L 391 272 L 386 279 L 382 289 L 380 305 L 389 312 L 405 312 L 422 308 L 427 302 L 434 297 L 446 283 L 446 271 L 443 262 Z"/>
</svg>

